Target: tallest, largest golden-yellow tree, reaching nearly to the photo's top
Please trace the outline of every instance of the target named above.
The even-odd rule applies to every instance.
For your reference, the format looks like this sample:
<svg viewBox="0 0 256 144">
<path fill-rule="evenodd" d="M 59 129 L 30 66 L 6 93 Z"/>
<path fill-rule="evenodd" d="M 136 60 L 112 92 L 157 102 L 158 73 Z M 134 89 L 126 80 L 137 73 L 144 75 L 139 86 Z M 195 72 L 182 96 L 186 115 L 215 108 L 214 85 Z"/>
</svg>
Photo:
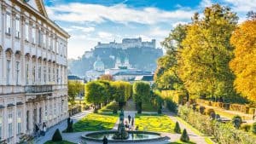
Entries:
<svg viewBox="0 0 256 144">
<path fill-rule="evenodd" d="M 206 8 L 201 19 L 195 14 L 178 56 L 178 76 L 190 95 L 210 95 L 215 100 L 236 95 L 229 67 L 233 56 L 229 39 L 236 23 L 236 14 L 218 4 Z"/>
</svg>

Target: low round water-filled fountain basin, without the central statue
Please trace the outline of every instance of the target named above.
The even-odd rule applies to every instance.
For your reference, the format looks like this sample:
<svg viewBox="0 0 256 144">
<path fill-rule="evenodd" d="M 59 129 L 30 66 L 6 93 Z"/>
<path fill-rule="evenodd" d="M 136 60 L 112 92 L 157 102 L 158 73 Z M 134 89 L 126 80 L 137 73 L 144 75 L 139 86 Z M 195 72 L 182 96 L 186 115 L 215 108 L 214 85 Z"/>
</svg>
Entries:
<svg viewBox="0 0 256 144">
<path fill-rule="evenodd" d="M 166 136 L 162 136 L 160 133 L 148 132 L 148 131 L 127 131 L 128 139 L 115 140 L 113 135 L 117 134 L 118 131 L 98 131 L 92 132 L 86 135 L 82 135 L 82 138 L 88 141 L 102 141 L 103 137 L 106 136 L 108 141 L 116 142 L 131 142 L 131 141 L 160 141 L 165 140 Z"/>
</svg>

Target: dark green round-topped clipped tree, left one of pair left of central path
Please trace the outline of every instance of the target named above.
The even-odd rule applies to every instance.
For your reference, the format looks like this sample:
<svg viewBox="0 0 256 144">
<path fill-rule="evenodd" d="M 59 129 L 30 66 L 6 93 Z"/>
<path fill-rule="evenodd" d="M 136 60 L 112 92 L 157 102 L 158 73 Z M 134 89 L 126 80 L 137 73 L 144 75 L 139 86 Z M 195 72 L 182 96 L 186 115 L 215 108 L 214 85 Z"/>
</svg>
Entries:
<svg viewBox="0 0 256 144">
<path fill-rule="evenodd" d="M 101 107 L 101 103 L 104 102 L 104 96 L 106 94 L 106 89 L 104 84 L 97 81 L 89 82 L 85 85 L 85 99 L 88 102 L 94 103 L 95 112 Z"/>
</svg>

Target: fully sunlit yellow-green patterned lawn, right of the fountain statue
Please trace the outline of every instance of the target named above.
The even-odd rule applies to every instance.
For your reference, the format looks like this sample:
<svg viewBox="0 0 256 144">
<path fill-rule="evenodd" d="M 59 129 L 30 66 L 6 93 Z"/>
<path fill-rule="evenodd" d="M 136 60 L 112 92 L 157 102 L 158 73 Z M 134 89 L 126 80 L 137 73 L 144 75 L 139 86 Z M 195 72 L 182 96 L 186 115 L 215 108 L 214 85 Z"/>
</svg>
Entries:
<svg viewBox="0 0 256 144">
<path fill-rule="evenodd" d="M 135 125 L 138 130 L 174 133 L 175 123 L 163 114 L 137 114 Z"/>
</svg>

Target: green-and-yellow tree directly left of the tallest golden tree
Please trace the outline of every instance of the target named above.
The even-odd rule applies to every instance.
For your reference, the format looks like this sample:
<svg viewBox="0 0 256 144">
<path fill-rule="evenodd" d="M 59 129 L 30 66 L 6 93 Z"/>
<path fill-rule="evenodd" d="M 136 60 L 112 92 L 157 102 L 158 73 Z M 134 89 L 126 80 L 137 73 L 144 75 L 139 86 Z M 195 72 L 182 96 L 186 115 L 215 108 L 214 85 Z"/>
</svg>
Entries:
<svg viewBox="0 0 256 144">
<path fill-rule="evenodd" d="M 154 73 L 154 82 L 158 89 L 185 90 L 177 75 L 177 54 L 183 49 L 181 43 L 186 36 L 187 27 L 177 25 L 161 43 L 167 52 L 157 61 L 157 70 Z"/>
</svg>

